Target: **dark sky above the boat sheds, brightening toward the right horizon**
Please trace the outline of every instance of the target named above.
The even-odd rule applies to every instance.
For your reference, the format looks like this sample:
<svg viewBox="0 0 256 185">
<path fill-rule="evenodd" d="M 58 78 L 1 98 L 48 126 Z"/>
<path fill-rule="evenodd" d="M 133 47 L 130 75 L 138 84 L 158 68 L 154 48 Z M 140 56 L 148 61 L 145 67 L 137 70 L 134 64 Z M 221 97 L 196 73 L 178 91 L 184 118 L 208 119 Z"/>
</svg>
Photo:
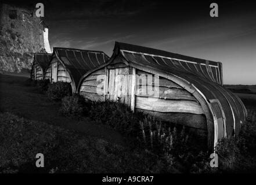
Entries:
<svg viewBox="0 0 256 185">
<path fill-rule="evenodd" d="M 37 2 L 37 1 L 35 1 Z M 256 84 L 253 1 L 40 1 L 51 47 L 102 50 L 114 41 L 221 61 L 225 84 Z M 210 17 L 217 2 L 219 17 Z"/>
</svg>

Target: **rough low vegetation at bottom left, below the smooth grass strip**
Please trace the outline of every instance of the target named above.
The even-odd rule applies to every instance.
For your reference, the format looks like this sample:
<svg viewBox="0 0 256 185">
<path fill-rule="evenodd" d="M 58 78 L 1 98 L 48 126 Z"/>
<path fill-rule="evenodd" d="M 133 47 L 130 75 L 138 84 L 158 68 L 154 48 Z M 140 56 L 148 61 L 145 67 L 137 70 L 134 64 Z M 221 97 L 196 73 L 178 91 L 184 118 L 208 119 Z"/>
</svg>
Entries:
<svg viewBox="0 0 256 185">
<path fill-rule="evenodd" d="M 0 113 L 0 173 L 150 173 L 164 165 L 143 150 Z M 43 153 L 45 168 L 35 166 Z"/>
</svg>

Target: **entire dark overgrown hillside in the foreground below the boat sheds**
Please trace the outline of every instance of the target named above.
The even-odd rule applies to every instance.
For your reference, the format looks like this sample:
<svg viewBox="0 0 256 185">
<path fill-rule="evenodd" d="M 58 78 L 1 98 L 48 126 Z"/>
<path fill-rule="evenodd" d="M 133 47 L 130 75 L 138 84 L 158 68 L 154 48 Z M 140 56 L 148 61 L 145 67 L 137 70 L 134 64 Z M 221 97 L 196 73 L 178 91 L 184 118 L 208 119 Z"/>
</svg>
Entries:
<svg viewBox="0 0 256 185">
<path fill-rule="evenodd" d="M 248 109 L 250 115 L 239 136 L 219 142 L 217 169 L 209 165 L 210 153 L 204 142 L 183 128 L 165 128 L 154 119 L 137 123 L 139 117 L 116 102 L 92 103 L 79 119 L 63 116 L 60 108 L 66 112 L 78 106 L 75 96 L 64 98 L 64 104 L 51 101 L 38 85 L 27 83 L 25 76 L 0 75 L 0 173 L 221 173 L 256 169 L 255 110 Z M 35 168 L 37 153 L 45 154 L 44 169 Z"/>
</svg>

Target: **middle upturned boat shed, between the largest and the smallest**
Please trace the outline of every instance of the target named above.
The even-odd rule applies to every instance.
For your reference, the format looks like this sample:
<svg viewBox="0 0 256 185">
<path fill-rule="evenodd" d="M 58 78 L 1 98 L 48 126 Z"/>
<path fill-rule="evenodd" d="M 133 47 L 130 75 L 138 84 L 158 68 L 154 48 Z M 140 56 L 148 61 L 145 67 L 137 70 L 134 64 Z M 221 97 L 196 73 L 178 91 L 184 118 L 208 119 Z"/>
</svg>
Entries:
<svg viewBox="0 0 256 185">
<path fill-rule="evenodd" d="M 102 51 L 54 47 L 44 79 L 49 79 L 51 83 L 71 83 L 74 93 L 77 92 L 78 82 L 86 72 L 105 64 L 108 60 L 109 57 Z"/>
</svg>

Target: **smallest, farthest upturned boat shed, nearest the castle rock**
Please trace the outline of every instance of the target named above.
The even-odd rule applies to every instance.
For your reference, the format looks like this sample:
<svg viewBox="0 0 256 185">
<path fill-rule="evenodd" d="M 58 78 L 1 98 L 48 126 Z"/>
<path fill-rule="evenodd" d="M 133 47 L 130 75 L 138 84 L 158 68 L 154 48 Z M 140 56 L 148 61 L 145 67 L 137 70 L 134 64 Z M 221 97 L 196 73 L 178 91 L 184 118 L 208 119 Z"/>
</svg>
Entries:
<svg viewBox="0 0 256 185">
<path fill-rule="evenodd" d="M 44 72 L 50 64 L 52 54 L 48 53 L 35 53 L 34 61 L 31 67 L 30 77 L 33 80 L 44 79 Z"/>
</svg>

